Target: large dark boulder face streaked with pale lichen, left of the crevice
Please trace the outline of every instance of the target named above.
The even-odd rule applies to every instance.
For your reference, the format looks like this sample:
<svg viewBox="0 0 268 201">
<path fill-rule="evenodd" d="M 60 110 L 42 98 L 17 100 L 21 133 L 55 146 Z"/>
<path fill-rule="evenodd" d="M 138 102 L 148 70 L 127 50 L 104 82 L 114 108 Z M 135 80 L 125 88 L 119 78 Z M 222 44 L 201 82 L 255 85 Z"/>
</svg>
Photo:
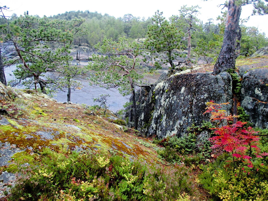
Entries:
<svg viewBox="0 0 268 201">
<path fill-rule="evenodd" d="M 137 110 L 139 131 L 158 138 L 181 137 L 187 127 L 209 120 L 209 116 L 203 115 L 206 102 L 232 102 L 232 79 L 226 72 L 217 76 L 185 73 L 142 88 L 136 95 L 140 103 Z M 231 107 L 229 104 L 226 109 Z"/>
</svg>

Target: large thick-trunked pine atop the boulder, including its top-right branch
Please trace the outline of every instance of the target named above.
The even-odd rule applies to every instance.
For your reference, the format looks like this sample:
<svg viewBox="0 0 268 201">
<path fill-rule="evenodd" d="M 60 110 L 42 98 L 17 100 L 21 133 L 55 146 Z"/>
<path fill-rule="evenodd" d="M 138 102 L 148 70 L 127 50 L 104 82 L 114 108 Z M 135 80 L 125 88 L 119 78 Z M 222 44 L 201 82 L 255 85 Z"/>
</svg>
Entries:
<svg viewBox="0 0 268 201">
<path fill-rule="evenodd" d="M 268 2 L 268 0 L 264 0 Z M 235 69 L 235 44 L 237 39 L 237 29 L 239 26 L 239 18 L 241 14 L 241 6 L 253 4 L 253 14 L 268 14 L 268 4 L 262 0 L 229 0 L 227 3 L 228 12 L 224 31 L 224 39 L 219 53 L 217 62 L 214 66 L 213 75 L 224 72 L 227 69 Z"/>
</svg>

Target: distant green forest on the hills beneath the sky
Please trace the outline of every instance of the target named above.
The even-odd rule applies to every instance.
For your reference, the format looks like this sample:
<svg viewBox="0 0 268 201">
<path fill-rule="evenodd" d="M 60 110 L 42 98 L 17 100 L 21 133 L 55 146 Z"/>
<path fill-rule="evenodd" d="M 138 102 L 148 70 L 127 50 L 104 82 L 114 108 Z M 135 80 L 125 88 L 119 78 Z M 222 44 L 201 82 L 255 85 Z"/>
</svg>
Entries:
<svg viewBox="0 0 268 201">
<path fill-rule="evenodd" d="M 174 19 L 174 16 L 172 16 Z M 176 17 L 176 16 L 175 16 Z M 225 28 L 226 13 L 218 16 L 217 19 L 208 19 L 207 22 L 200 20 L 193 21 L 191 46 L 193 50 L 202 57 L 208 59 L 217 55 L 221 48 L 221 43 Z M 16 19 L 16 14 L 9 18 L 10 21 Z M 127 39 L 147 38 L 148 25 L 152 25 L 152 18 L 135 17 L 132 14 L 125 14 L 123 17 L 115 18 L 109 14 L 100 14 L 98 12 L 86 11 L 69 11 L 48 17 L 50 19 L 72 20 L 73 18 L 84 18 L 83 31 L 75 36 L 73 44 L 77 46 L 87 45 L 94 48 L 98 42 L 103 42 L 104 38 L 113 39 L 125 36 Z M 168 20 L 168 19 L 167 19 Z M 214 24 L 214 21 L 218 21 Z M 169 19 L 171 22 L 171 19 Z M 6 21 L 0 18 L 0 24 Z M 260 33 L 256 27 L 246 27 L 243 20 L 240 25 L 240 53 L 239 55 L 250 56 L 256 50 L 268 46 L 268 38 L 264 33 Z M 185 37 L 187 37 L 187 27 L 184 28 Z M 182 40 L 187 46 L 187 40 Z M 185 48 L 186 49 L 186 48 Z"/>
</svg>

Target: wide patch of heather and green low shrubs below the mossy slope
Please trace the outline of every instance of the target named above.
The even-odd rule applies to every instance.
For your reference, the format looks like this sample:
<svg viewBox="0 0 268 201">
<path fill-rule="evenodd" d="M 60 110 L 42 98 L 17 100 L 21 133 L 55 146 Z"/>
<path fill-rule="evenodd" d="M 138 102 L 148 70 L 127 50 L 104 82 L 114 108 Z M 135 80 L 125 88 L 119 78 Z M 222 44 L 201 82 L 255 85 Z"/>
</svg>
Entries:
<svg viewBox="0 0 268 201">
<path fill-rule="evenodd" d="M 39 162 L 21 167 L 9 200 L 183 200 L 195 194 L 185 166 L 49 148 L 40 153 Z"/>
</svg>

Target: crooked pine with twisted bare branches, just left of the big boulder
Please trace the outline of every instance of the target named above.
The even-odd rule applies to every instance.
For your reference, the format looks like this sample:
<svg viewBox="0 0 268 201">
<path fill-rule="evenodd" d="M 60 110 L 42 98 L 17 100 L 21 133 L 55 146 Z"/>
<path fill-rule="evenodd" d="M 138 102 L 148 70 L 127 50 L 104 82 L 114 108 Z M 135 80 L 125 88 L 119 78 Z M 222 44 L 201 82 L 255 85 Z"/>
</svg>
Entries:
<svg viewBox="0 0 268 201">
<path fill-rule="evenodd" d="M 137 106 L 135 99 L 135 85 L 140 83 L 143 75 L 137 72 L 141 68 L 140 59 L 141 44 L 130 43 L 125 37 L 119 38 L 118 42 L 112 39 L 104 39 L 103 45 L 98 43 L 96 49 L 103 55 L 92 55 L 94 64 L 91 69 L 95 75 L 90 77 L 92 84 L 105 88 L 118 88 L 120 94 L 132 94 L 132 116 L 134 127 L 137 129 Z"/>
</svg>

